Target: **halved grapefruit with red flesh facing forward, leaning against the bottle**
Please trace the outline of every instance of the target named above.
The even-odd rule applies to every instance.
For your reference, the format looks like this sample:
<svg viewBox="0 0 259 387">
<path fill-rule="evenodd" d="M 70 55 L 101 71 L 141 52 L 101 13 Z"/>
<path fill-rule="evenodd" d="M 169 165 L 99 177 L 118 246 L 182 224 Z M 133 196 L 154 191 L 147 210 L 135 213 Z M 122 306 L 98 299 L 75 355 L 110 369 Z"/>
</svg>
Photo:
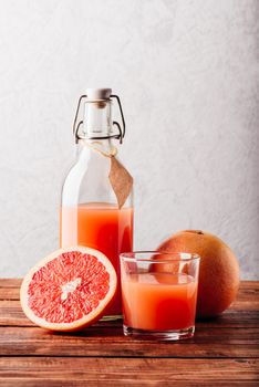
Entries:
<svg viewBox="0 0 259 387">
<path fill-rule="evenodd" d="M 116 286 L 116 272 L 102 252 L 84 247 L 60 249 L 24 276 L 21 306 L 41 327 L 76 331 L 104 314 Z"/>
</svg>

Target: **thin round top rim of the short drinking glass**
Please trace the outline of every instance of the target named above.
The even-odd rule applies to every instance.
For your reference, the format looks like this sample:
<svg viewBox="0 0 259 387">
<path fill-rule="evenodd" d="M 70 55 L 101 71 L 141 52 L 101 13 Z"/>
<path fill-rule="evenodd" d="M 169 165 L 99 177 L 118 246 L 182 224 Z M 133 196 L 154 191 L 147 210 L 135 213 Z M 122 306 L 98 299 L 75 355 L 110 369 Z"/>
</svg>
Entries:
<svg viewBox="0 0 259 387">
<path fill-rule="evenodd" d="M 155 258 L 136 258 L 137 254 L 152 254 L 152 255 L 172 255 L 172 257 L 178 257 L 178 259 L 174 258 L 165 258 L 165 259 L 155 259 Z M 185 257 L 183 257 L 185 255 Z M 157 250 L 136 250 L 136 251 L 128 251 L 123 252 L 120 254 L 120 259 L 127 261 L 127 262 L 154 262 L 154 263 L 168 263 L 168 262 L 191 262 L 191 261 L 199 261 L 200 257 L 196 253 L 185 252 L 185 251 L 175 251 L 175 252 L 168 252 L 168 251 L 157 251 Z"/>
</svg>

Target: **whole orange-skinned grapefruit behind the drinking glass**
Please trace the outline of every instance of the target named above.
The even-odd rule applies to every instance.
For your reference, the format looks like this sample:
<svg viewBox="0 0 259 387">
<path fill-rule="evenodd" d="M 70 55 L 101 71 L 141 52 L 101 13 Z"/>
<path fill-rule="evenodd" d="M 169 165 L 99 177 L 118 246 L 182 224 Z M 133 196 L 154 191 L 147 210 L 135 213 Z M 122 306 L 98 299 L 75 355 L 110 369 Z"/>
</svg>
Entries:
<svg viewBox="0 0 259 387">
<path fill-rule="evenodd" d="M 197 253 L 200 257 L 197 316 L 216 316 L 235 300 L 239 287 L 238 260 L 218 237 L 199 230 L 179 231 L 157 250 Z"/>
</svg>

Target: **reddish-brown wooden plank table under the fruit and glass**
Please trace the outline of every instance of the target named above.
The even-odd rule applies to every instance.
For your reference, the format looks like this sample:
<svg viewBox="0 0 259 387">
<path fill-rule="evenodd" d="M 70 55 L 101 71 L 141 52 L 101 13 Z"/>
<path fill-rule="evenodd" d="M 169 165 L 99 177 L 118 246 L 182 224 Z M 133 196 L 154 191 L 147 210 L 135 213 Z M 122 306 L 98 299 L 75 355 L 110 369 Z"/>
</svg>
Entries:
<svg viewBox="0 0 259 387">
<path fill-rule="evenodd" d="M 180 343 L 124 337 L 118 322 L 46 332 L 23 315 L 20 283 L 0 280 L 0 386 L 259 386 L 259 282 Z"/>
</svg>

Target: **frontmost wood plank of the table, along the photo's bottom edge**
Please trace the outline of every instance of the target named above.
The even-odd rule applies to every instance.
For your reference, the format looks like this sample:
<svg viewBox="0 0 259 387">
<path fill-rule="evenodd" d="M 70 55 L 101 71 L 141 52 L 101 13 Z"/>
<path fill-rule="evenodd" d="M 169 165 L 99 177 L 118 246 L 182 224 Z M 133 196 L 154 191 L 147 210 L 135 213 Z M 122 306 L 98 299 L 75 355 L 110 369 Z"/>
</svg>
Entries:
<svg viewBox="0 0 259 387">
<path fill-rule="evenodd" d="M 4 386 L 256 386 L 258 369 L 258 359 L 0 358 Z"/>
</svg>

